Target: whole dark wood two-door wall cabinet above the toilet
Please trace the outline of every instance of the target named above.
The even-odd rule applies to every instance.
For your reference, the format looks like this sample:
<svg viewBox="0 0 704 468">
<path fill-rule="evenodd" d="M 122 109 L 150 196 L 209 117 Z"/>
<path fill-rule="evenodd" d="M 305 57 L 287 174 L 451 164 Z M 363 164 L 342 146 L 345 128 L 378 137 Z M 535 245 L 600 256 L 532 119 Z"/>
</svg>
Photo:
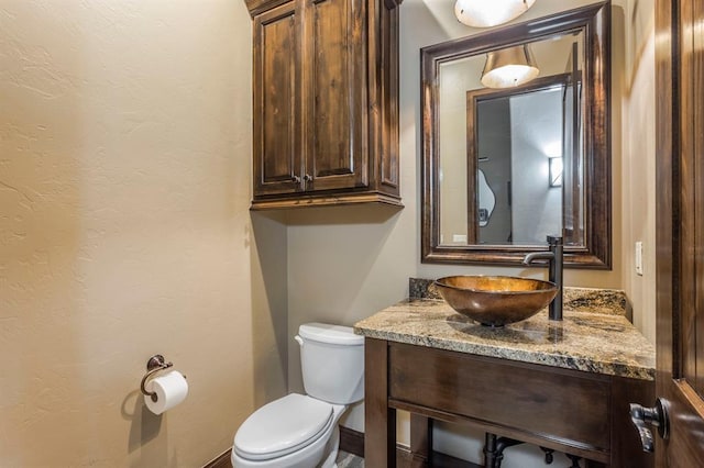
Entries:
<svg viewBox="0 0 704 468">
<path fill-rule="evenodd" d="M 400 0 L 245 0 L 253 210 L 400 205 Z"/>
</svg>

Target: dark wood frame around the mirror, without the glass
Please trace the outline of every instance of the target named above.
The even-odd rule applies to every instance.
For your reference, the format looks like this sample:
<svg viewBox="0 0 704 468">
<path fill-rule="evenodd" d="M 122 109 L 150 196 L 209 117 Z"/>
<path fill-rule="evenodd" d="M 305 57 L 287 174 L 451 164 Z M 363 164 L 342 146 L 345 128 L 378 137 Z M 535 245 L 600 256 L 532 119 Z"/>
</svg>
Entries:
<svg viewBox="0 0 704 468">
<path fill-rule="evenodd" d="M 564 266 L 610 269 L 610 1 L 424 47 L 421 55 L 421 261 L 515 265 L 543 245 L 441 245 L 438 96 L 440 65 L 583 31 L 584 243 L 564 248 Z"/>
</svg>

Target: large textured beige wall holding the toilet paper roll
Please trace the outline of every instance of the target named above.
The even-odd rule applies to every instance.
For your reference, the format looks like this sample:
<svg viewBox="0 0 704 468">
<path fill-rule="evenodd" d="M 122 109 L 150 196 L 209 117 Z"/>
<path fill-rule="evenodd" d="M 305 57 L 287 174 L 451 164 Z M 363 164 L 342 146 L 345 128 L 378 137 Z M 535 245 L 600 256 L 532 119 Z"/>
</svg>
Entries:
<svg viewBox="0 0 704 468">
<path fill-rule="evenodd" d="M 285 390 L 250 64 L 242 1 L 0 3 L 0 465 L 200 466 Z M 155 353 L 190 385 L 161 417 Z"/>
</svg>

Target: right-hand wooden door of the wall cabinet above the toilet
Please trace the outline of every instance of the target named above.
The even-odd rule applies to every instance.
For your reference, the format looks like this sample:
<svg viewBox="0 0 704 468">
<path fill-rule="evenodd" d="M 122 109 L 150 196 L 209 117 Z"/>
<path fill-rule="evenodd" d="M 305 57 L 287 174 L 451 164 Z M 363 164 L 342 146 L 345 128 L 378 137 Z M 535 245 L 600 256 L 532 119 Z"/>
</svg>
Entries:
<svg viewBox="0 0 704 468">
<path fill-rule="evenodd" d="M 306 2 L 306 191 L 369 186 L 366 3 Z"/>
</svg>

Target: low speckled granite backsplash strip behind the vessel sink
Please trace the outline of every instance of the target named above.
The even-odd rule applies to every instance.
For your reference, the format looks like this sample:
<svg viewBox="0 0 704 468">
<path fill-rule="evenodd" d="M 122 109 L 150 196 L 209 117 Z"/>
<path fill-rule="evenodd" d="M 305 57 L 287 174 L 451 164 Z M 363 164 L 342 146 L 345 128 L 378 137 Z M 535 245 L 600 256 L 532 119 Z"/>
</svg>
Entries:
<svg viewBox="0 0 704 468">
<path fill-rule="evenodd" d="M 433 282 L 433 279 L 409 278 L 408 297 L 410 299 L 442 299 Z M 575 312 L 624 315 L 628 320 L 631 317 L 628 299 L 622 290 L 565 286 L 562 294 L 563 309 Z"/>
</svg>

